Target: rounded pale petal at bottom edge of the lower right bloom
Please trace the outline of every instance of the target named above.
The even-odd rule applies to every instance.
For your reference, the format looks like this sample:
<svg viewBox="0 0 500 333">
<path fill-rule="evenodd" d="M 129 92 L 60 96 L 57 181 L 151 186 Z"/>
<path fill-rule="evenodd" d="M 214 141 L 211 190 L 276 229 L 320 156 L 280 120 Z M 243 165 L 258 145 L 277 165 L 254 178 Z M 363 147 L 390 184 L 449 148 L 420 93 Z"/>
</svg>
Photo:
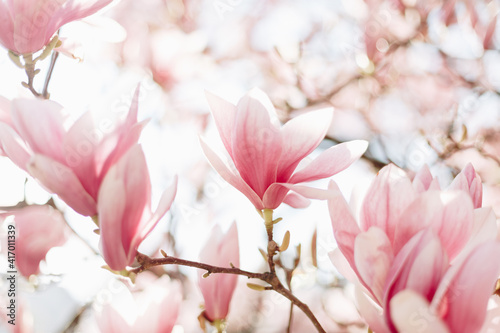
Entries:
<svg viewBox="0 0 500 333">
<path fill-rule="evenodd" d="M 429 302 L 415 291 L 403 290 L 396 294 L 391 300 L 390 309 L 392 322 L 398 332 L 450 332 L 446 324 L 431 311 Z"/>
</svg>

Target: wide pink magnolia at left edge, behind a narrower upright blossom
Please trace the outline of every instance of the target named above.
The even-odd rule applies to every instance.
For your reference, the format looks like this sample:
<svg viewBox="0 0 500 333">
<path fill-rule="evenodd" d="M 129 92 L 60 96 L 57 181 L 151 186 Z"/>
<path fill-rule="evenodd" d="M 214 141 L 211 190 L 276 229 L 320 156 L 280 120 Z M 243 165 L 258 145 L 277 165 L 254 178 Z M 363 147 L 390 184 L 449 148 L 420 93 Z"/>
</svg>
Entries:
<svg viewBox="0 0 500 333">
<path fill-rule="evenodd" d="M 117 124 L 87 112 L 68 126 L 55 102 L 13 100 L 12 125 L 0 122 L 1 150 L 76 212 L 94 216 L 102 179 L 137 142 L 145 124 L 137 122 L 138 94 L 139 89 L 126 118 Z"/>
</svg>

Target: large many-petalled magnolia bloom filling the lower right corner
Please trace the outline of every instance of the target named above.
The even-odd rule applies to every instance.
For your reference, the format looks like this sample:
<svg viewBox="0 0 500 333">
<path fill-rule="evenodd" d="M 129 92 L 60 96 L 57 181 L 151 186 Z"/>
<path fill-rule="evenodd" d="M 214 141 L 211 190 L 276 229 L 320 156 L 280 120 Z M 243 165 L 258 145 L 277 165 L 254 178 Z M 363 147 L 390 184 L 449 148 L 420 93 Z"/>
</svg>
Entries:
<svg viewBox="0 0 500 333">
<path fill-rule="evenodd" d="M 427 168 L 410 181 L 393 165 L 368 189 L 359 224 L 334 182 L 328 200 L 334 264 L 357 284 L 361 315 L 384 332 L 479 332 L 500 273 L 495 215 L 480 208 L 467 166 L 448 190 Z"/>
</svg>

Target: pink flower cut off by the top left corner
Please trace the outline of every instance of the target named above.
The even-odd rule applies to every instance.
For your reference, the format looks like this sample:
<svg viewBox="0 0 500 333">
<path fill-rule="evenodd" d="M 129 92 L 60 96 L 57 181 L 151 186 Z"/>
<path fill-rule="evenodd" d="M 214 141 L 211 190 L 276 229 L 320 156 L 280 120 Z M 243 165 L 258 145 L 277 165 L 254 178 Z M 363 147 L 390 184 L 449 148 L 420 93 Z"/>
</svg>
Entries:
<svg viewBox="0 0 500 333">
<path fill-rule="evenodd" d="M 0 44 L 16 54 L 46 46 L 64 24 L 79 20 L 112 0 L 0 1 Z"/>
</svg>

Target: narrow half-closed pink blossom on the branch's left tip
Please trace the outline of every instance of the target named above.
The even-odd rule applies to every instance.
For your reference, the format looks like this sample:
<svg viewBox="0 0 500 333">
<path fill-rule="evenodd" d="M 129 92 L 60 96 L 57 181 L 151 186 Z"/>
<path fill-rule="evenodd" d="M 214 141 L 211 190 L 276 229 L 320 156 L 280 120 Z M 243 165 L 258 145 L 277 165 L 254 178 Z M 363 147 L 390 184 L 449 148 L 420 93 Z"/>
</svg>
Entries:
<svg viewBox="0 0 500 333">
<path fill-rule="evenodd" d="M 138 144 L 109 169 L 99 189 L 98 216 L 100 247 L 111 269 L 132 264 L 141 242 L 170 208 L 176 190 L 177 178 L 151 212 L 151 181 Z"/>
</svg>

